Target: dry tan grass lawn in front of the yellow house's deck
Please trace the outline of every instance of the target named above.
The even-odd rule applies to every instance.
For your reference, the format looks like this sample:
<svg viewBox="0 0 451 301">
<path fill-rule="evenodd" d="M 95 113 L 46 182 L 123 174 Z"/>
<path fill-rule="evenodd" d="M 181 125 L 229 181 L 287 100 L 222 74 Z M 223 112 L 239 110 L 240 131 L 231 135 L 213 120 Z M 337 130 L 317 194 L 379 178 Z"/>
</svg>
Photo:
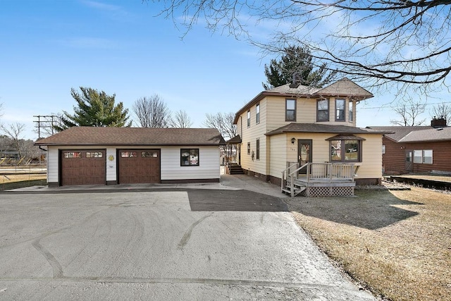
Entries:
<svg viewBox="0 0 451 301">
<path fill-rule="evenodd" d="M 335 262 L 391 300 L 451 300 L 451 195 L 423 188 L 287 199 Z"/>
</svg>

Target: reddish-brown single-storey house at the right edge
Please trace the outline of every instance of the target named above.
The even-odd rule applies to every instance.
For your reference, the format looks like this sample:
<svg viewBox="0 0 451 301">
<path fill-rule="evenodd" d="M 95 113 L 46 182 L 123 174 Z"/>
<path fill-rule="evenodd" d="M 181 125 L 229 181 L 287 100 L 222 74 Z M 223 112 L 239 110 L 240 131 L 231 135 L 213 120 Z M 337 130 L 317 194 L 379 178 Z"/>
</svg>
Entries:
<svg viewBox="0 0 451 301">
<path fill-rule="evenodd" d="M 443 118 L 431 126 L 371 126 L 373 130 L 391 132 L 383 137 L 383 172 L 402 173 L 451 172 L 451 128 Z"/>
</svg>

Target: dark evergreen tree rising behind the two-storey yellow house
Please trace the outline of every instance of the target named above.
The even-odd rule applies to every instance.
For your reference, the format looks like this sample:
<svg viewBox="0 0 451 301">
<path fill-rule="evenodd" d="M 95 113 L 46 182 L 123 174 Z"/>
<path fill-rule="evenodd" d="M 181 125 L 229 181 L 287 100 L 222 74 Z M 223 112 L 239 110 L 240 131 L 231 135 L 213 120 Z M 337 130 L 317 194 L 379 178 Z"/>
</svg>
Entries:
<svg viewBox="0 0 451 301">
<path fill-rule="evenodd" d="M 326 74 L 326 63 L 315 69 L 309 49 L 304 47 L 286 47 L 280 60 L 272 59 L 265 64 L 267 84 L 262 83 L 265 90 L 292 82 L 293 75 L 297 84 L 311 87 L 323 87 L 333 80 L 335 72 Z"/>
</svg>

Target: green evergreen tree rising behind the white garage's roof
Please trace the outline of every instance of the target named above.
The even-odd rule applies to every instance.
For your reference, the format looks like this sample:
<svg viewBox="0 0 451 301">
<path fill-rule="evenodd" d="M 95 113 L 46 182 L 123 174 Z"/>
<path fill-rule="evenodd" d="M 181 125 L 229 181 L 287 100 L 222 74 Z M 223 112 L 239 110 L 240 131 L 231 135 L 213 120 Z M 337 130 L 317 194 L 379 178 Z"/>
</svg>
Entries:
<svg viewBox="0 0 451 301">
<path fill-rule="evenodd" d="M 61 123 L 55 125 L 58 131 L 66 130 L 73 126 L 113 126 L 129 127 L 132 122 L 128 122 L 128 109 L 124 109 L 123 103 L 115 105 L 115 97 L 107 95 L 104 91 L 97 91 L 88 87 L 80 87 L 81 94 L 71 89 L 70 94 L 77 102 L 73 106 L 73 114 L 63 111 Z"/>
</svg>

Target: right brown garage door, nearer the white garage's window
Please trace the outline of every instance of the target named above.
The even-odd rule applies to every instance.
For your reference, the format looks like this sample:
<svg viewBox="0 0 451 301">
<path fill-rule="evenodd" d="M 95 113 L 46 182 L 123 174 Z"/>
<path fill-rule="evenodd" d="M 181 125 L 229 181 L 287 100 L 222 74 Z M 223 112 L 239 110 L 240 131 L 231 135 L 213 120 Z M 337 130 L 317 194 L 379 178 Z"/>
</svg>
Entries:
<svg viewBox="0 0 451 301">
<path fill-rule="evenodd" d="M 159 149 L 121 149 L 119 183 L 160 183 Z"/>
</svg>

